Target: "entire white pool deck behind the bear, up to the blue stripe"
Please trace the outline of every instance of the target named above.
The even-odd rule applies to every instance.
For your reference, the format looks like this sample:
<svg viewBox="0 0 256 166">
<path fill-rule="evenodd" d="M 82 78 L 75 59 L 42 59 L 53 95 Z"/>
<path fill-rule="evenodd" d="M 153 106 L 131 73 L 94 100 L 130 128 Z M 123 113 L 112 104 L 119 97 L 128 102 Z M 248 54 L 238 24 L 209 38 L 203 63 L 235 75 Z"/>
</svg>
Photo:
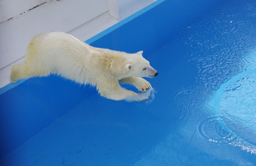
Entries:
<svg viewBox="0 0 256 166">
<path fill-rule="evenodd" d="M 1 21 L 0 88 L 10 83 L 12 65 L 24 62 L 26 46 L 35 35 L 44 31 L 61 31 L 86 41 L 154 1 L 50 0 L 22 11 L 10 20 Z M 7 0 L 0 0 L 0 5 L 4 2 Z"/>
</svg>

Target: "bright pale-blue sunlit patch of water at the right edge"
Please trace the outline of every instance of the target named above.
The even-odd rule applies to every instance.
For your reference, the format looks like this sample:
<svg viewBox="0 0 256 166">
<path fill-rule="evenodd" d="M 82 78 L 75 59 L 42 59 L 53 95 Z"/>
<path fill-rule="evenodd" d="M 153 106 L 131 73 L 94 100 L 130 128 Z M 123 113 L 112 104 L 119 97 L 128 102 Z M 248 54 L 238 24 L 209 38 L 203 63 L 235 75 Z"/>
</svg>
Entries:
<svg viewBox="0 0 256 166">
<path fill-rule="evenodd" d="M 211 101 L 219 102 L 216 115 L 222 127 L 234 138 L 230 144 L 256 153 L 256 53 L 243 73 L 221 85 Z"/>
</svg>

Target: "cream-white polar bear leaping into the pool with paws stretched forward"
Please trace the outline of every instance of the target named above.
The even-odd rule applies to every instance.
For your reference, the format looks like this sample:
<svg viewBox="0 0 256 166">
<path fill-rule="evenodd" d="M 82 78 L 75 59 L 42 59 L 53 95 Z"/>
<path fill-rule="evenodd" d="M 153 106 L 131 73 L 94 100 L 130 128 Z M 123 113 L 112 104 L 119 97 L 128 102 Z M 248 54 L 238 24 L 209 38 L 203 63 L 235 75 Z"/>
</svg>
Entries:
<svg viewBox="0 0 256 166">
<path fill-rule="evenodd" d="M 133 84 L 145 92 L 151 85 L 141 77 L 152 78 L 158 74 L 142 53 L 95 48 L 69 34 L 48 31 L 31 39 L 25 62 L 12 66 L 10 80 L 15 83 L 20 79 L 58 74 L 80 84 L 96 86 L 101 96 L 122 100 L 140 93 L 126 90 L 119 83 Z"/>
</svg>

